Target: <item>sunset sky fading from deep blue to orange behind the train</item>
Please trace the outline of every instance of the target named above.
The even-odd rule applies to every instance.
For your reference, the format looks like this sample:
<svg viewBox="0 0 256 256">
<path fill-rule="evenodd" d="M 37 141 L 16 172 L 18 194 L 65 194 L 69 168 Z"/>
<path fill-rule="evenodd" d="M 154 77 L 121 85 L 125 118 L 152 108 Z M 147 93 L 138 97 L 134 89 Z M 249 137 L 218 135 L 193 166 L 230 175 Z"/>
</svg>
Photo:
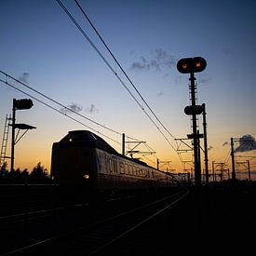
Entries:
<svg viewBox="0 0 256 256">
<path fill-rule="evenodd" d="M 190 116 L 183 111 L 191 103 L 189 74 L 180 74 L 176 64 L 182 58 L 200 56 L 207 67 L 195 74 L 197 104 L 205 103 L 207 109 L 209 168 L 212 161 L 231 168 L 231 138 L 250 138 L 251 147 L 241 147 L 235 141 L 236 162 L 249 159 L 250 169 L 256 170 L 255 1 L 78 1 L 168 132 L 148 110 L 75 2 L 61 2 L 105 61 L 58 1 L 0 1 L 0 70 L 53 100 L 0 75 L 39 100 L 0 82 L 1 141 L 13 99 L 34 101 L 30 110 L 16 112 L 17 123 L 36 129 L 16 144 L 15 168 L 31 170 L 41 162 L 49 171 L 52 143 L 69 130 L 90 129 L 103 134 L 120 153 L 121 133 L 132 138 L 127 141 L 146 141 L 138 148 L 155 152 L 143 158 L 150 165 L 155 166 L 158 158 L 163 169 L 191 169 L 192 152 L 178 154 L 177 149 L 188 147 L 175 140 L 192 133 Z M 198 126 L 202 133 L 201 115 Z M 191 141 L 185 142 L 191 145 Z M 132 142 L 126 145 L 129 149 L 134 146 Z M 8 147 L 7 155 L 9 152 Z M 243 171 L 244 166 L 236 168 Z"/>
</svg>

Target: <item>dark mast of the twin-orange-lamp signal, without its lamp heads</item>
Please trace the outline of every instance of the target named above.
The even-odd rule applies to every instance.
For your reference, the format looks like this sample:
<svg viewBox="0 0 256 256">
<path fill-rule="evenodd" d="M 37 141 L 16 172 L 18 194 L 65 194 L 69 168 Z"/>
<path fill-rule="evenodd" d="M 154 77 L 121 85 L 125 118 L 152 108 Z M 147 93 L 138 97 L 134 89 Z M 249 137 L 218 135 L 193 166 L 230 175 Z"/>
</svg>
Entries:
<svg viewBox="0 0 256 256">
<path fill-rule="evenodd" d="M 194 72 L 190 73 L 190 82 L 191 82 L 191 104 L 195 109 L 195 75 Z M 194 166 L 195 166 L 195 185 L 201 184 L 201 168 L 200 168 L 200 159 L 199 159 L 199 147 L 197 139 L 197 126 L 196 126 L 196 114 L 192 115 L 193 123 L 193 141 L 194 141 Z"/>
</svg>

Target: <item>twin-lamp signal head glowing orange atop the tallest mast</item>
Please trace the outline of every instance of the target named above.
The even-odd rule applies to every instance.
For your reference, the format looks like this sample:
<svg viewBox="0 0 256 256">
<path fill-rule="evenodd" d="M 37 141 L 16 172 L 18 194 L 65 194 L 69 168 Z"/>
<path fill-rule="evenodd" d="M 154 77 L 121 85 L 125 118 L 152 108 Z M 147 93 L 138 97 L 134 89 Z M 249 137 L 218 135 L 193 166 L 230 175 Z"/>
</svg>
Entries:
<svg viewBox="0 0 256 256">
<path fill-rule="evenodd" d="M 177 63 L 177 69 L 182 74 L 202 72 L 207 66 L 207 61 L 202 57 L 184 58 Z"/>
</svg>

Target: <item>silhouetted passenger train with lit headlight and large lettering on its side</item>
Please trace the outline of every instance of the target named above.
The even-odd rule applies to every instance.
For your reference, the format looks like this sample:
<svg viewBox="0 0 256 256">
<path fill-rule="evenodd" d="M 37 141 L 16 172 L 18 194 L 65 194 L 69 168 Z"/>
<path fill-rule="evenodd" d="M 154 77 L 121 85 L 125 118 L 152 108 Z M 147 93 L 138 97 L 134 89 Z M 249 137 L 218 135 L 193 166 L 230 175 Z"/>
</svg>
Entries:
<svg viewBox="0 0 256 256">
<path fill-rule="evenodd" d="M 50 176 L 61 186 L 82 186 L 99 193 L 150 190 L 179 182 L 174 175 L 117 153 L 89 130 L 69 131 L 52 144 Z"/>
</svg>

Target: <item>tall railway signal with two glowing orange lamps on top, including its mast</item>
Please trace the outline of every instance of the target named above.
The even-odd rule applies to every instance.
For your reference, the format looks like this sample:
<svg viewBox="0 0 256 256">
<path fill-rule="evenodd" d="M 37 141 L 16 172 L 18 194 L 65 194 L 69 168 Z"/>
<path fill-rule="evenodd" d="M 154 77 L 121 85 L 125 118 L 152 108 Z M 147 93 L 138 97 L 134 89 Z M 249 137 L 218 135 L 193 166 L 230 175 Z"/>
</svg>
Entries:
<svg viewBox="0 0 256 256">
<path fill-rule="evenodd" d="M 200 139 L 199 131 L 197 130 L 196 115 L 203 112 L 202 106 L 196 105 L 195 97 L 195 73 L 205 70 L 207 61 L 202 57 L 184 58 L 177 62 L 177 69 L 182 74 L 190 74 L 190 91 L 191 91 L 191 106 L 186 106 L 184 112 L 186 115 L 192 115 L 193 133 L 189 137 L 193 140 L 194 149 L 194 165 L 195 165 L 195 184 L 201 184 L 201 162 L 200 162 Z"/>
</svg>

